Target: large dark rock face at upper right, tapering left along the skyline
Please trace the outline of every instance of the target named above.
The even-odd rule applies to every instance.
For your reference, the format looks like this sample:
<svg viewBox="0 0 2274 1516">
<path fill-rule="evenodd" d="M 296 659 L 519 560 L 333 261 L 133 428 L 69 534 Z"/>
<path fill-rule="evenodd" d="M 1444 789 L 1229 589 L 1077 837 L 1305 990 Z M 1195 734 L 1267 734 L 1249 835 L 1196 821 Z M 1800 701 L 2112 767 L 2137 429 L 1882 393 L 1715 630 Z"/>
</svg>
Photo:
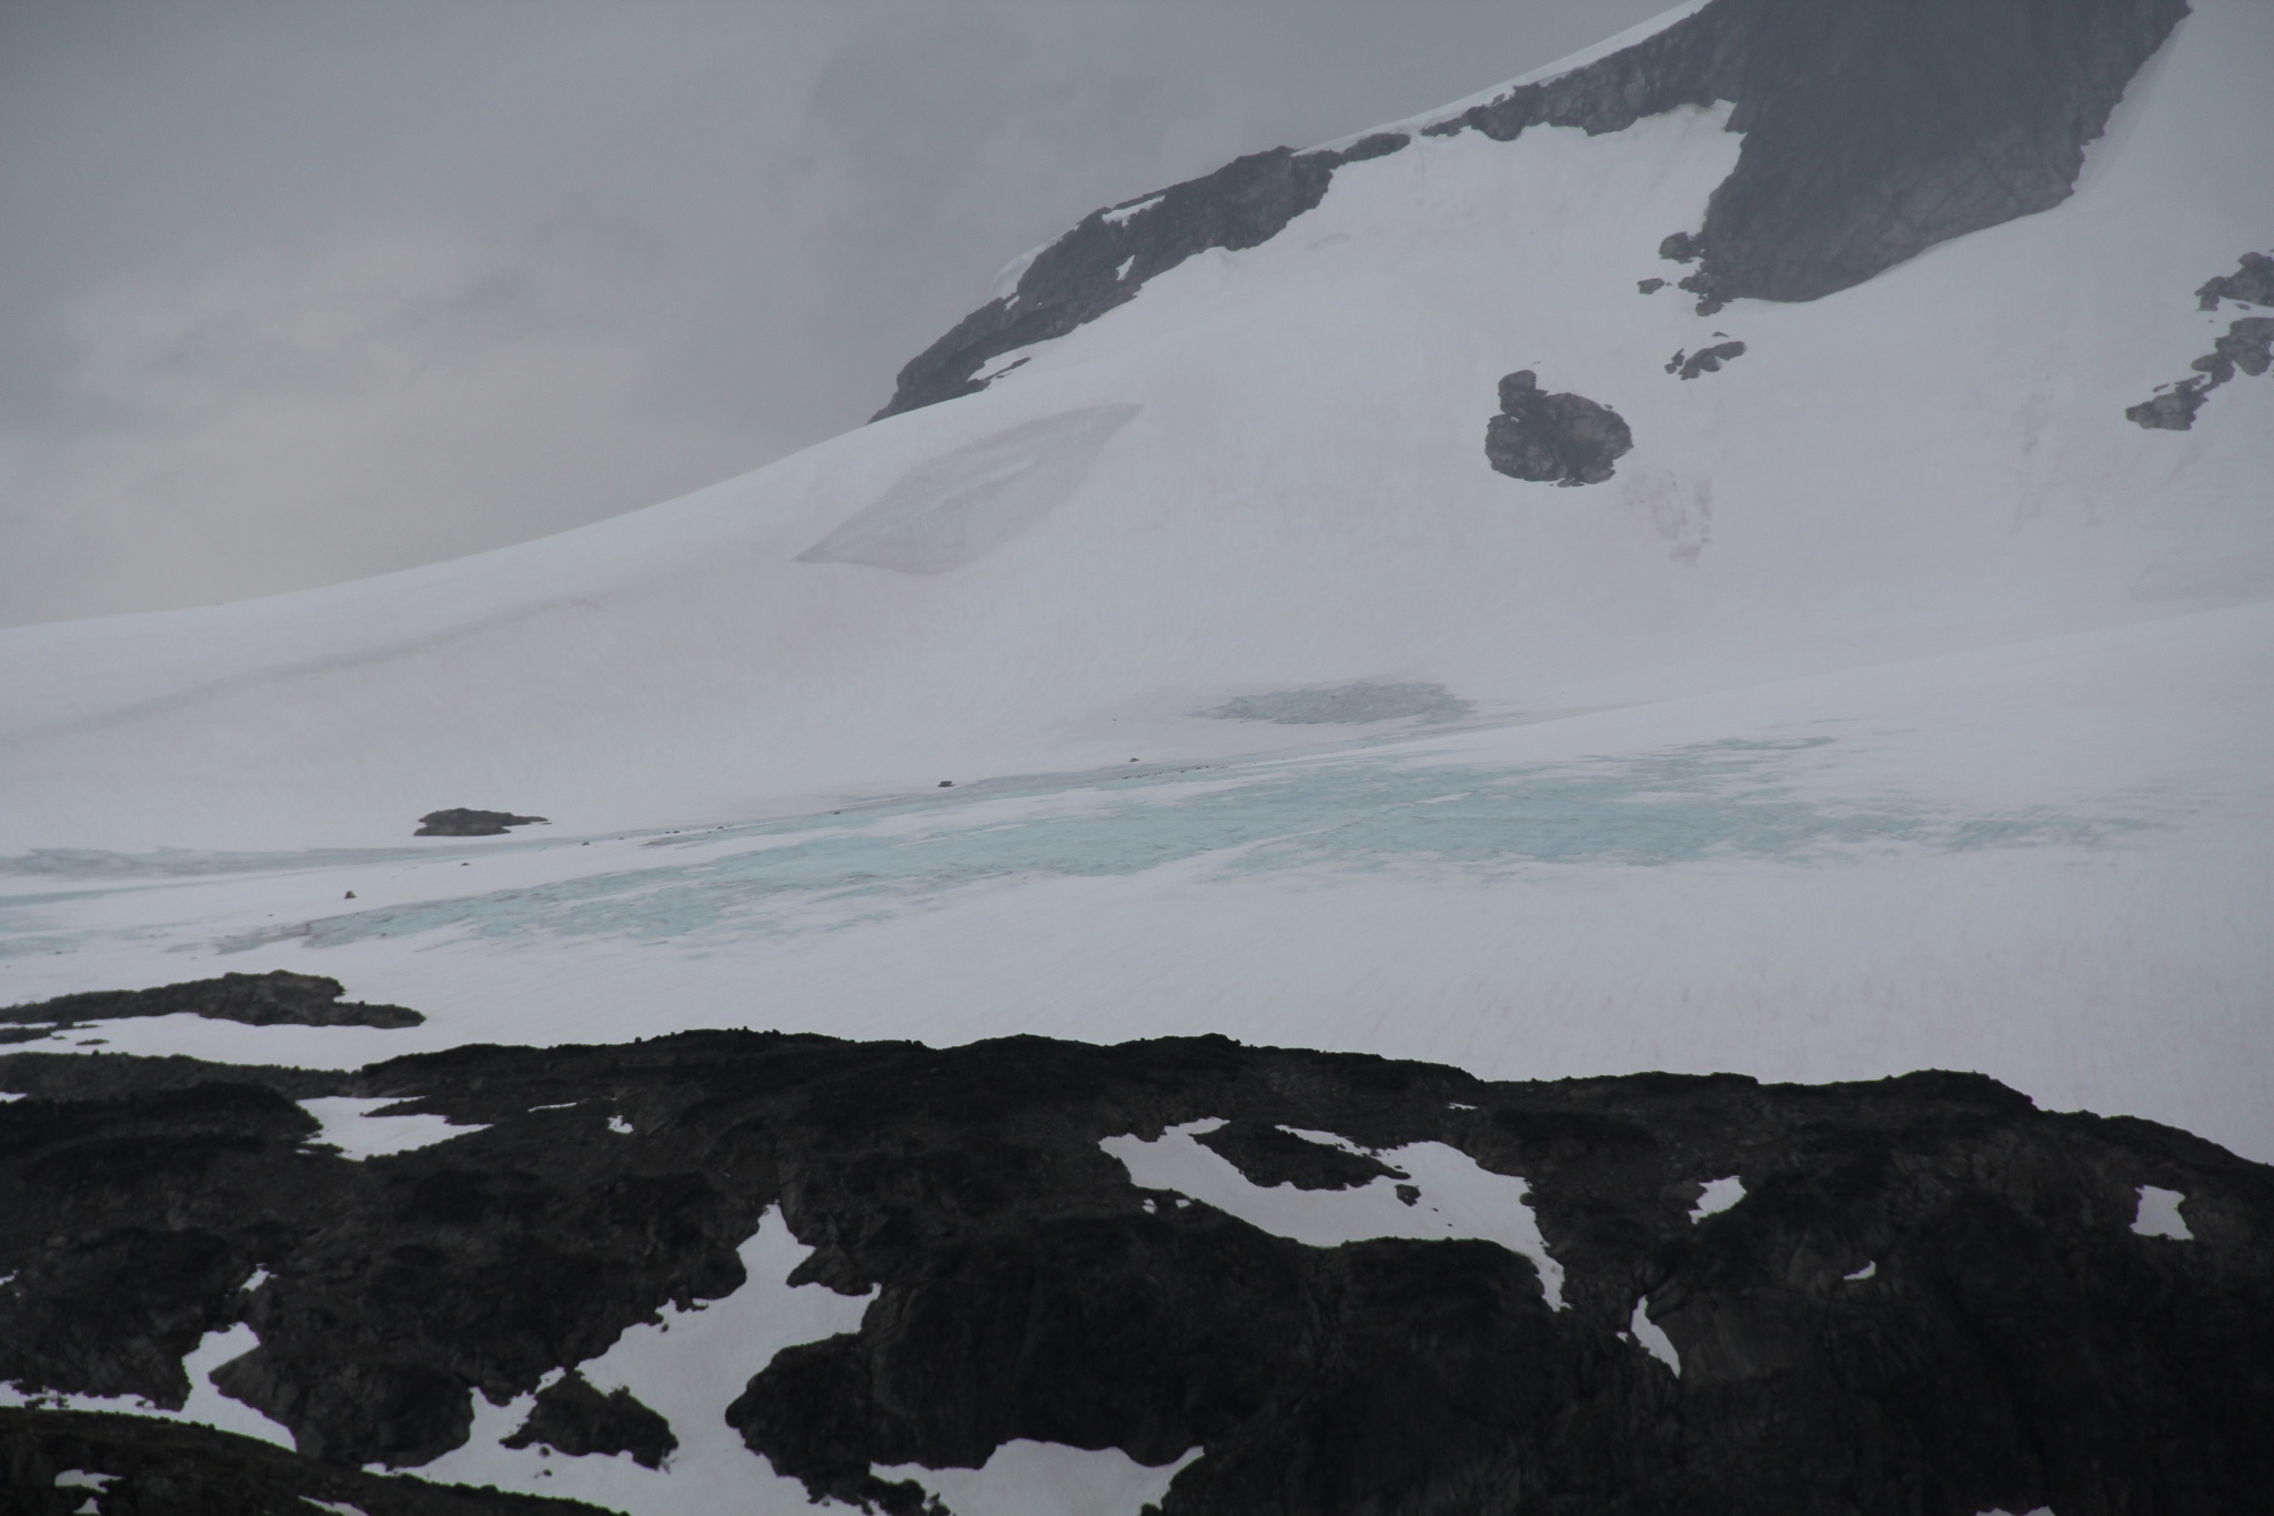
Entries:
<svg viewBox="0 0 2274 1516">
<path fill-rule="evenodd" d="M 1476 125 L 1496 136 L 1560 116 L 1599 132 L 1628 109 L 1733 100 L 1744 148 L 1683 289 L 1703 311 L 1815 300 L 2067 200 L 2085 143 L 2185 14 L 2185 0 L 1717 0 L 1596 64 L 1601 82 L 1549 80 L 1469 116 L 1489 114 Z"/>
</svg>

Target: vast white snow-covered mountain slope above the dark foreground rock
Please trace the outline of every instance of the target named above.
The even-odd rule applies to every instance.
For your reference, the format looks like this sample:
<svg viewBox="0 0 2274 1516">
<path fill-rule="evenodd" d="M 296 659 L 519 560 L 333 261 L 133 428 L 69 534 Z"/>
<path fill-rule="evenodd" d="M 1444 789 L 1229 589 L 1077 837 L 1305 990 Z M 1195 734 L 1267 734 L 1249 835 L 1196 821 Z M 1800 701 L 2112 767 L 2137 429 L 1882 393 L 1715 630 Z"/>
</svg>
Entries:
<svg viewBox="0 0 2274 1516">
<path fill-rule="evenodd" d="M 2274 9 L 2199 0 L 2053 209 L 1703 316 L 1637 284 L 1744 102 L 1408 123 L 748 477 L 0 634 L 0 1002 L 289 966 L 430 1016 L 109 1034 L 316 1064 L 680 1025 L 1944 1064 L 2274 1155 L 2274 380 L 2124 416 L 2274 248 L 2269 61 Z M 1524 368 L 1630 425 L 1610 480 L 1487 466 Z M 457 805 L 553 825 L 414 850 Z"/>
</svg>

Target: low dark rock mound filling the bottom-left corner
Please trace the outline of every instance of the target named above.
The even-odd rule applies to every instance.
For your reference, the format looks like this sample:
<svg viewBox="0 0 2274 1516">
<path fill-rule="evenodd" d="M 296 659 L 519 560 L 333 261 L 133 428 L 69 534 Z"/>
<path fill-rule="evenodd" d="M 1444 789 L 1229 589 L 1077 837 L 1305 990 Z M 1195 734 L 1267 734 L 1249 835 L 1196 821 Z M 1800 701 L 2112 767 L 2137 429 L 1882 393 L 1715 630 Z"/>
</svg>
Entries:
<svg viewBox="0 0 2274 1516">
<path fill-rule="evenodd" d="M 57 1475 L 93 1482 L 57 1486 Z M 578 1500 L 428 1484 L 323 1464 L 250 1436 L 148 1416 L 0 1409 L 9 1516 L 600 1516 Z"/>
</svg>

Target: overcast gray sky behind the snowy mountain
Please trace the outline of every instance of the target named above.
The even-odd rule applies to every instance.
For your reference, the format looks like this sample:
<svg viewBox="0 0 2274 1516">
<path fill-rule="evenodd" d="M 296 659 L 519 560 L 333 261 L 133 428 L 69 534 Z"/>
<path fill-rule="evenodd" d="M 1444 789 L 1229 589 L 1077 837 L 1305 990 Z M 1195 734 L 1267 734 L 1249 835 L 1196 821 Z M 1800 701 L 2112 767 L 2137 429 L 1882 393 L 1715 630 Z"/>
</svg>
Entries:
<svg viewBox="0 0 2274 1516">
<path fill-rule="evenodd" d="M 0 0 L 0 625 L 744 473 L 1092 207 L 1665 5 Z"/>
</svg>

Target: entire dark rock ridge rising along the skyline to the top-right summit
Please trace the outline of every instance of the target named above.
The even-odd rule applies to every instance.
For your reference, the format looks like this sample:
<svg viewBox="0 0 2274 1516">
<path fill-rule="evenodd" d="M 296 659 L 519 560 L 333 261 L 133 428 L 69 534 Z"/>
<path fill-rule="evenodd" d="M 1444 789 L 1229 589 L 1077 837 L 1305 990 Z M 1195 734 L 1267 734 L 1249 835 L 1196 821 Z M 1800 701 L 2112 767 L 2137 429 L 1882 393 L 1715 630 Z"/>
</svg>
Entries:
<svg viewBox="0 0 2274 1516">
<path fill-rule="evenodd" d="M 2185 0 L 1712 0 L 1633 48 L 1424 127 L 1512 141 L 1535 125 L 1621 132 L 1735 102 L 1737 168 L 1665 257 L 1701 309 L 1815 300 L 1951 236 L 2060 205 L 2085 143 Z M 989 359 L 1064 336 L 1205 248 L 1253 248 L 1319 205 L 1339 152 L 1273 148 L 1094 211 L 901 370 L 878 416 L 969 395 Z"/>
</svg>

